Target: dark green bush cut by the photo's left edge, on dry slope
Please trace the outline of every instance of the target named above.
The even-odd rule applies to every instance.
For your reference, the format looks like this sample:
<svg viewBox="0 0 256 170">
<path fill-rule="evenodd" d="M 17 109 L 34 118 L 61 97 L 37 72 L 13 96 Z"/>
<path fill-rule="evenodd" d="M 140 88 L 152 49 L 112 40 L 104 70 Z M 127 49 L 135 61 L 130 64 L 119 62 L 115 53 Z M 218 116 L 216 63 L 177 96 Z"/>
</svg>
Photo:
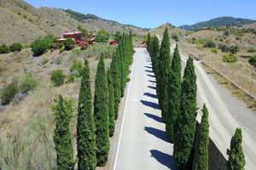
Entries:
<svg viewBox="0 0 256 170">
<path fill-rule="evenodd" d="M 19 93 L 18 80 L 13 79 L 6 87 L 2 89 L 1 99 L 2 105 L 7 105 Z"/>
</svg>

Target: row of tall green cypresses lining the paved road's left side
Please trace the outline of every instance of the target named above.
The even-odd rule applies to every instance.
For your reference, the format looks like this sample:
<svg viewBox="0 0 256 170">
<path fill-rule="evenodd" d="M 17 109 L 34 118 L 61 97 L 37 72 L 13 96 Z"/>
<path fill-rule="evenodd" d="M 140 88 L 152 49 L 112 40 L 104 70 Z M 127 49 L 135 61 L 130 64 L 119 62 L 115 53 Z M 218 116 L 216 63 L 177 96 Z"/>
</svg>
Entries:
<svg viewBox="0 0 256 170">
<path fill-rule="evenodd" d="M 110 69 L 106 71 L 103 54 L 96 71 L 95 97 L 92 104 L 90 89 L 90 68 L 84 59 L 81 87 L 79 92 L 77 150 L 80 170 L 96 169 L 108 162 L 109 137 L 113 136 L 118 118 L 119 101 L 124 95 L 126 77 L 133 54 L 132 32 L 124 33 L 116 53 L 113 54 Z M 73 116 L 72 101 L 60 95 L 53 106 L 55 111 L 55 149 L 57 169 L 73 170 L 73 142 L 70 132 L 70 120 Z M 94 105 L 94 107 L 92 106 Z"/>
</svg>

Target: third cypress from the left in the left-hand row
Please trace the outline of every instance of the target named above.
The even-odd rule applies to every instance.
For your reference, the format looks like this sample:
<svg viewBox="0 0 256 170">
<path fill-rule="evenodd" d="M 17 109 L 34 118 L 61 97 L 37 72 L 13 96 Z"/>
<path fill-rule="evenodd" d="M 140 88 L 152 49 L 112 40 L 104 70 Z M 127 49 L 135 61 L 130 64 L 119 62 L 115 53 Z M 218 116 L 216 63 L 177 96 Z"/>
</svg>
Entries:
<svg viewBox="0 0 256 170">
<path fill-rule="evenodd" d="M 109 153 L 109 112 L 108 82 L 103 54 L 100 57 L 96 71 L 94 116 L 96 125 L 97 166 L 104 166 L 108 162 Z"/>
</svg>

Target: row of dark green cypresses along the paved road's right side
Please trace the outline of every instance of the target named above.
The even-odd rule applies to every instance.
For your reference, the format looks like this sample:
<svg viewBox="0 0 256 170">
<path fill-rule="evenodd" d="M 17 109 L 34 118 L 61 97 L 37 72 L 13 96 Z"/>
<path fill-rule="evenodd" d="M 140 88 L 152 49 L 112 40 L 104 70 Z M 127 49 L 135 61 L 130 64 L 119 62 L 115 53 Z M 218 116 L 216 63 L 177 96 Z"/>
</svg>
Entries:
<svg viewBox="0 0 256 170">
<path fill-rule="evenodd" d="M 147 47 L 157 82 L 156 93 L 159 99 L 162 120 L 166 122 L 166 138 L 174 144 L 174 161 L 178 169 L 182 170 L 208 169 L 209 122 L 206 105 L 203 105 L 203 116 L 195 136 L 197 86 L 193 59 L 189 57 L 187 60 L 182 80 L 181 57 L 177 44 L 171 61 L 167 27 L 161 45 L 156 36 L 152 40 L 150 39 L 150 33 L 148 33 Z M 230 161 L 227 163 L 229 169 L 235 169 L 236 166 L 234 165 L 240 165 L 241 167 L 245 165 L 241 150 L 241 129 L 236 130 L 236 137 L 233 138 L 230 150 L 227 151 L 230 160 L 232 160 L 231 163 L 229 163 Z M 195 147 L 193 147 L 194 144 Z M 234 149 L 235 146 L 238 149 Z M 235 154 L 234 150 L 240 151 Z M 235 155 L 240 157 L 234 159 Z"/>
</svg>

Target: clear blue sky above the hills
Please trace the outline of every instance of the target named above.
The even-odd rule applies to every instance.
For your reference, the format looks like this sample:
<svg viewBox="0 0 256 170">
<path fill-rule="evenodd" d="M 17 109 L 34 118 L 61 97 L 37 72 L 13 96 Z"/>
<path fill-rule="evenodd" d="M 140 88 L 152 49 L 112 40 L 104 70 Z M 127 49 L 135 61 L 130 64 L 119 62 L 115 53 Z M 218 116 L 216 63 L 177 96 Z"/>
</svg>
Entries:
<svg viewBox="0 0 256 170">
<path fill-rule="evenodd" d="M 70 8 L 83 14 L 143 28 L 166 22 L 192 25 L 220 16 L 256 20 L 256 0 L 25 0 L 34 7 Z"/>
</svg>

